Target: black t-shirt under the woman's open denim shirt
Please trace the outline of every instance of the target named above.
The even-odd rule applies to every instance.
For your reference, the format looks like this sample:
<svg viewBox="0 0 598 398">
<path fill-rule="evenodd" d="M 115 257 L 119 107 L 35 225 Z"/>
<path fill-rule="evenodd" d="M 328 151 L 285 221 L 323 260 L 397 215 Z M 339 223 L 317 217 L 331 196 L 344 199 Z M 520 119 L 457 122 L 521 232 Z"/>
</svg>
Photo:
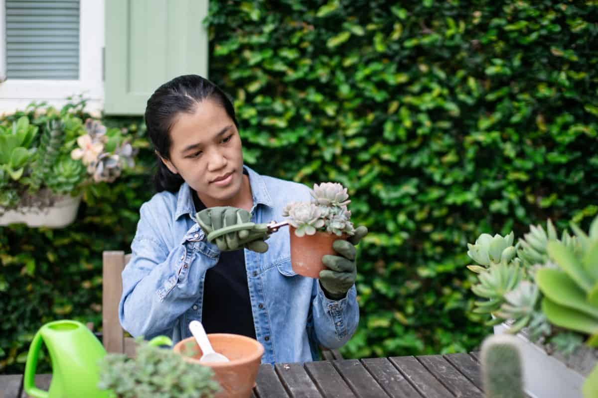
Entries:
<svg viewBox="0 0 598 398">
<path fill-rule="evenodd" d="M 191 189 L 196 211 L 206 208 Z M 255 338 L 243 249 L 220 253 L 203 283 L 202 325 L 206 333 L 234 333 Z"/>
</svg>

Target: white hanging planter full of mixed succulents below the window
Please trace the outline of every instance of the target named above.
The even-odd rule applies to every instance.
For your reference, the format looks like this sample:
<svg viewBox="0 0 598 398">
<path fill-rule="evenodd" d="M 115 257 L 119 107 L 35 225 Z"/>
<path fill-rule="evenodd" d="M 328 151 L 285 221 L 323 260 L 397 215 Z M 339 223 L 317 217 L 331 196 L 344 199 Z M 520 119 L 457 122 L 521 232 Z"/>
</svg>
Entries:
<svg viewBox="0 0 598 398">
<path fill-rule="evenodd" d="M 84 106 L 32 104 L 0 119 L 0 226 L 64 227 L 84 192 L 133 165 L 128 137 L 87 118 Z"/>
</svg>

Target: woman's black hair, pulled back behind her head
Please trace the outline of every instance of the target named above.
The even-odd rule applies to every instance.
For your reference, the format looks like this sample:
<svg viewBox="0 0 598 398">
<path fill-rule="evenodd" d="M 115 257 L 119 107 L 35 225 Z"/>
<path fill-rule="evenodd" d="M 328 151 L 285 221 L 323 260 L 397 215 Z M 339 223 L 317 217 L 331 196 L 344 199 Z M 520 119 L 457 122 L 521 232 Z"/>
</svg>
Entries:
<svg viewBox="0 0 598 398">
<path fill-rule="evenodd" d="M 218 86 L 198 75 L 183 75 L 164 83 L 149 97 L 145 107 L 145 125 L 154 146 L 157 171 L 154 186 L 157 192 L 177 192 L 184 182 L 181 175 L 171 172 L 158 158 L 170 160 L 170 129 L 179 113 L 193 113 L 198 103 L 210 99 L 221 105 L 234 125 L 239 128 L 230 98 Z"/>
</svg>

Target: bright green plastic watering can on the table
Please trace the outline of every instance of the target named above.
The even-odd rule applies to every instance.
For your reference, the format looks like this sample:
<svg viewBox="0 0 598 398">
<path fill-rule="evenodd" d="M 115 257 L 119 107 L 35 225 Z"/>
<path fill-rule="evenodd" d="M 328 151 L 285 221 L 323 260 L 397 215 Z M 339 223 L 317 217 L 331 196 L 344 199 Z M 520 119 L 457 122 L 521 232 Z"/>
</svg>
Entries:
<svg viewBox="0 0 598 398">
<path fill-rule="evenodd" d="M 50 390 L 35 387 L 35 370 L 42 341 L 52 362 Z M 172 345 L 166 336 L 149 341 L 151 345 Z M 102 343 L 81 322 L 56 320 L 39 329 L 27 355 L 23 387 L 34 398 L 108 398 L 112 391 L 99 390 L 98 362 L 106 355 Z"/>
</svg>

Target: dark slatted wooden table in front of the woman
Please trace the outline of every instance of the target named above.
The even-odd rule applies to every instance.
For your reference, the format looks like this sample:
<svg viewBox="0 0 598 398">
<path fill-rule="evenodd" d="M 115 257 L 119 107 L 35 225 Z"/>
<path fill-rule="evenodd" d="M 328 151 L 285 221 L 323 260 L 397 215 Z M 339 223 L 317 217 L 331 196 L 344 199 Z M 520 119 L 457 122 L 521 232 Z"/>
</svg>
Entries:
<svg viewBox="0 0 598 398">
<path fill-rule="evenodd" d="M 0 375 L 0 398 L 23 398 L 22 375 Z M 47 390 L 50 375 L 36 384 Z M 255 398 L 483 398 L 475 353 L 261 365 Z M 4 392 L 4 396 L 2 393 Z"/>
</svg>

